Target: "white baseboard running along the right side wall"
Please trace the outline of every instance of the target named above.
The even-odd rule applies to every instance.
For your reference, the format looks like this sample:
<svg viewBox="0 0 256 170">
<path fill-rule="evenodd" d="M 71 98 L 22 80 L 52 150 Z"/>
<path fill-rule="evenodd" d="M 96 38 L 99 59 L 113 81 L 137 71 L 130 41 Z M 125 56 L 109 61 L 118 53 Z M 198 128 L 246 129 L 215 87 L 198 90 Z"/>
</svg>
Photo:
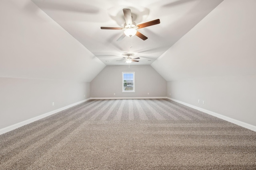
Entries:
<svg viewBox="0 0 256 170">
<path fill-rule="evenodd" d="M 223 120 L 229 121 L 231 123 L 234 123 L 236 125 L 245 127 L 245 128 L 250 129 L 252 131 L 256 131 L 256 126 L 254 126 L 254 125 L 250 125 L 248 123 L 244 123 L 242 121 L 239 121 L 239 120 L 236 120 L 236 119 L 233 119 L 233 118 L 230 118 L 230 117 L 227 117 L 227 116 L 215 113 L 213 111 L 202 109 L 200 107 L 197 107 L 197 106 L 194 106 L 194 105 L 191 105 L 191 104 L 187 104 L 187 103 L 181 102 L 181 101 L 176 100 L 176 99 L 172 99 L 172 98 L 168 98 L 168 97 L 167 97 L 167 99 L 172 100 L 172 101 L 177 102 L 177 103 L 180 103 L 180 104 L 183 104 L 183 105 L 188 106 L 188 107 L 192 107 L 193 109 L 197 109 L 197 110 L 202 111 L 204 113 L 207 113 L 209 115 L 212 115 L 212 116 L 218 117 L 220 119 L 223 119 Z"/>
</svg>

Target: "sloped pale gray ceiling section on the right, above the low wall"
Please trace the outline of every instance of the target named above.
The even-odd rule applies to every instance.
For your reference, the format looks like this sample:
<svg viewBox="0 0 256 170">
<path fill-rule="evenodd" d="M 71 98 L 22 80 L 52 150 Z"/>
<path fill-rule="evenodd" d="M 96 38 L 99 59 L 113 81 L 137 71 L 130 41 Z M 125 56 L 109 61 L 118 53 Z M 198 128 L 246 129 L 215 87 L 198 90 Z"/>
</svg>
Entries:
<svg viewBox="0 0 256 170">
<path fill-rule="evenodd" d="M 256 75 L 255 6 L 225 0 L 151 66 L 167 81 Z"/>
</svg>

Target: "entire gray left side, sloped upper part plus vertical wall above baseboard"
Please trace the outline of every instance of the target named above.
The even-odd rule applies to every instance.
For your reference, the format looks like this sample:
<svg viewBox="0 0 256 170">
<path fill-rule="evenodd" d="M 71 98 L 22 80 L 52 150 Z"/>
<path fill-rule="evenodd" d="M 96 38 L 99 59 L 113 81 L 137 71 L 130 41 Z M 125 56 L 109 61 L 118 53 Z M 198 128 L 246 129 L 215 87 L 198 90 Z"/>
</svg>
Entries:
<svg viewBox="0 0 256 170">
<path fill-rule="evenodd" d="M 105 64 L 66 30 L 30 0 L 1 0 L 0 21 L 0 129 L 90 98 Z"/>
</svg>

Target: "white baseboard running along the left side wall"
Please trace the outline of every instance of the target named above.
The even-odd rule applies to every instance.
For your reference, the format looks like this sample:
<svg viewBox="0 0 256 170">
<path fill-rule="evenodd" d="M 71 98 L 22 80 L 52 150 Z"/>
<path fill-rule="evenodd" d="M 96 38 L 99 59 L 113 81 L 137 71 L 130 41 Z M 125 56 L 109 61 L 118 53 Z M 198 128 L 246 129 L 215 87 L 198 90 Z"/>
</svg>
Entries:
<svg viewBox="0 0 256 170">
<path fill-rule="evenodd" d="M 81 104 L 81 103 L 83 103 L 83 102 L 86 102 L 86 101 L 88 101 L 88 100 L 90 100 L 90 98 L 88 98 L 88 99 L 86 99 L 86 100 L 82 100 L 82 101 L 80 101 L 80 102 L 76 102 L 76 103 L 74 103 L 74 104 L 70 104 L 70 105 L 68 105 L 68 106 L 65 106 L 65 107 L 62 107 L 62 108 L 59 108 L 59 109 L 56 109 L 56 110 L 53 110 L 53 111 L 50 111 L 50 112 L 48 112 L 48 113 L 44 113 L 44 114 L 42 114 L 42 115 L 39 115 L 39 116 L 30 118 L 30 119 L 28 119 L 28 120 L 25 120 L 25 121 L 16 123 L 16 124 L 14 124 L 14 125 L 10 125 L 10 126 L 8 126 L 8 127 L 4 127 L 4 128 L 2 128 L 2 129 L 0 129 L 0 135 L 1 135 L 1 134 L 4 134 L 4 133 L 6 133 L 6 132 L 12 131 L 12 130 L 14 130 L 14 129 L 17 129 L 18 127 L 22 127 L 22 126 L 24 126 L 24 125 L 27 125 L 27 124 L 32 123 L 32 122 L 34 122 L 34 121 L 37 121 L 37 120 L 39 120 L 39 119 L 42 119 L 42 118 L 44 118 L 44 117 L 50 116 L 50 115 L 52 115 L 52 114 L 54 114 L 54 113 L 58 113 L 59 111 L 62 111 L 62 110 L 68 109 L 68 108 L 70 108 L 70 107 L 76 106 L 76 105 Z"/>
</svg>

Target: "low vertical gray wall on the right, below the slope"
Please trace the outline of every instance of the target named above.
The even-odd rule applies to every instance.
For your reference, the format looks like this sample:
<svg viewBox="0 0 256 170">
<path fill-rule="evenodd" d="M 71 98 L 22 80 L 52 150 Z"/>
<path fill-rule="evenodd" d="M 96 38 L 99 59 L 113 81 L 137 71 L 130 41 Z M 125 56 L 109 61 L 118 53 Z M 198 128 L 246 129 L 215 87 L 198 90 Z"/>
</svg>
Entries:
<svg viewBox="0 0 256 170">
<path fill-rule="evenodd" d="M 256 126 L 256 75 L 169 81 L 167 89 L 170 98 Z"/>
</svg>

